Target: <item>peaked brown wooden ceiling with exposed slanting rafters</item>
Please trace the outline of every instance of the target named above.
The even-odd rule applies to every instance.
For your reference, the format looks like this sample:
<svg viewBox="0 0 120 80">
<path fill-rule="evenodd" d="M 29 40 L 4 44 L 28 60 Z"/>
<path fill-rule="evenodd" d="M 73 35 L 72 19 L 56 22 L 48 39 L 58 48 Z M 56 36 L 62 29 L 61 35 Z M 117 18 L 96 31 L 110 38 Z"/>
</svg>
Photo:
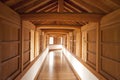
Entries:
<svg viewBox="0 0 120 80">
<path fill-rule="evenodd" d="M 85 14 L 89 18 L 92 18 L 95 14 L 95 17 L 98 18 L 97 15 L 105 15 L 114 10 L 120 8 L 120 0 L 1 0 L 4 4 L 11 7 L 13 10 L 18 12 L 21 15 L 28 14 L 40 14 L 47 13 L 56 13 L 60 15 L 62 14 Z M 30 15 L 31 16 L 31 15 Z M 49 15 L 50 16 L 50 15 Z M 69 15 L 71 16 L 71 15 Z M 32 16 L 33 17 L 33 16 Z M 44 18 L 47 18 L 45 15 Z M 52 16 L 55 17 L 55 16 Z M 92 20 L 86 20 L 82 17 L 82 15 L 78 17 L 82 17 L 78 20 L 72 20 L 74 18 L 70 18 L 70 20 L 58 20 L 59 15 L 56 15 L 56 19 L 54 20 L 47 20 L 47 19 L 28 19 L 35 25 L 50 25 L 50 24 L 61 24 L 61 25 L 80 25 L 83 26 L 89 23 Z M 65 15 L 63 16 L 65 17 Z M 72 16 L 71 16 L 72 17 Z M 77 17 L 77 16 L 75 16 Z M 27 17 L 29 18 L 29 17 Z M 69 19 L 69 17 L 67 17 Z M 51 18 L 50 18 L 51 19 Z M 64 18 L 63 18 L 64 19 Z M 96 20 L 96 19 L 95 19 Z"/>
</svg>

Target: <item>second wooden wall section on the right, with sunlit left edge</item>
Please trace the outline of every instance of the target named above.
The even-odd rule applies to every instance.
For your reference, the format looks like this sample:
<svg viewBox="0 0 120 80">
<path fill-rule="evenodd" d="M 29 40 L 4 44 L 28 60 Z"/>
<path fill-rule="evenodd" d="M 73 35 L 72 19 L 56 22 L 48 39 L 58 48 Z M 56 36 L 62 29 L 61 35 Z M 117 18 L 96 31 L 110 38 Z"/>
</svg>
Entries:
<svg viewBox="0 0 120 80">
<path fill-rule="evenodd" d="M 82 58 L 93 69 L 96 69 L 98 23 L 89 23 L 82 30 Z"/>
</svg>

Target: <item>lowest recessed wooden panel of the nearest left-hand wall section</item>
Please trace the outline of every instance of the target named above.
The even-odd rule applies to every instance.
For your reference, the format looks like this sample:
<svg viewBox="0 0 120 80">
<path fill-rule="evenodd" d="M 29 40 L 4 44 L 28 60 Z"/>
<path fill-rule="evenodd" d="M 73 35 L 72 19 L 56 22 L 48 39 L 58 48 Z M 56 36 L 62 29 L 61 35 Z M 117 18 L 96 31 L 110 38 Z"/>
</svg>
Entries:
<svg viewBox="0 0 120 80">
<path fill-rule="evenodd" d="M 2 80 L 10 79 L 10 77 L 13 76 L 14 73 L 17 73 L 17 72 L 19 72 L 18 57 L 12 58 L 9 61 L 6 61 L 2 64 Z"/>
</svg>

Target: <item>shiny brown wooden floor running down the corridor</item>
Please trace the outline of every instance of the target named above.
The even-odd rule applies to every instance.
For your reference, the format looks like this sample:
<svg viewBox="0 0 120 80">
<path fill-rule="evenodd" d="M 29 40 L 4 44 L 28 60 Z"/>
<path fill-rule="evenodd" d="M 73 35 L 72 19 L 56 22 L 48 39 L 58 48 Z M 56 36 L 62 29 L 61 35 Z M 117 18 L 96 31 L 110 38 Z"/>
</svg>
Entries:
<svg viewBox="0 0 120 80">
<path fill-rule="evenodd" d="M 51 51 L 43 64 L 37 80 L 78 80 L 61 50 Z"/>
</svg>

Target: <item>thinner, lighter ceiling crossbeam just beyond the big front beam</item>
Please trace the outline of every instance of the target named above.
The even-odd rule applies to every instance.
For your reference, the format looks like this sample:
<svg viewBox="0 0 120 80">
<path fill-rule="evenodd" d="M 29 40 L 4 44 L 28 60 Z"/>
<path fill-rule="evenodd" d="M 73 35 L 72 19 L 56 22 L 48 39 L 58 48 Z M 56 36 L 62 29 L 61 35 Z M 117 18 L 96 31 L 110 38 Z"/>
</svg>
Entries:
<svg viewBox="0 0 120 80">
<path fill-rule="evenodd" d="M 37 29 L 80 29 L 79 25 L 36 25 Z"/>
</svg>

